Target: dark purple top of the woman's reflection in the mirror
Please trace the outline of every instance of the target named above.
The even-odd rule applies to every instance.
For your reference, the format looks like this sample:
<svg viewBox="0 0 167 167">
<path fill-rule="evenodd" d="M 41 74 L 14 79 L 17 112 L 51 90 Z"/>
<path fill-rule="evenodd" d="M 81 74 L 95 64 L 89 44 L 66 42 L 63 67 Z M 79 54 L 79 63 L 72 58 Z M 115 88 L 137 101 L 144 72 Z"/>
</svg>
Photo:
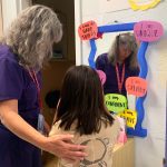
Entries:
<svg viewBox="0 0 167 167">
<path fill-rule="evenodd" d="M 97 60 L 96 60 L 96 68 L 98 70 L 102 70 L 106 73 L 107 80 L 104 85 L 104 91 L 106 94 L 119 94 L 118 90 L 118 82 L 117 82 L 117 75 L 116 75 L 116 67 L 112 66 L 107 57 L 107 53 L 100 55 Z M 122 65 L 119 65 L 118 67 L 119 70 L 119 76 L 121 76 L 122 71 Z M 139 69 L 134 69 L 131 70 L 129 68 L 129 62 L 128 59 L 125 61 L 125 79 L 124 79 L 124 85 L 121 89 L 121 94 L 126 96 L 126 88 L 125 88 L 125 81 L 128 77 L 131 76 L 138 76 Z"/>
</svg>

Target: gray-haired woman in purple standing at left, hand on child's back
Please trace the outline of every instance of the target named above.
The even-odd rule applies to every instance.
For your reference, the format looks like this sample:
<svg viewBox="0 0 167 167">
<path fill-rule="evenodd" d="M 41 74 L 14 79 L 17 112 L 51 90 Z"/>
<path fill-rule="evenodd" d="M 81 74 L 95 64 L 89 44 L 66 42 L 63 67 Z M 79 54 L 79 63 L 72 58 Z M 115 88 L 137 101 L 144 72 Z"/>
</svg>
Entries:
<svg viewBox="0 0 167 167">
<path fill-rule="evenodd" d="M 0 166 L 41 167 L 40 149 L 58 157 L 82 159 L 85 146 L 71 135 L 46 137 L 40 115 L 40 69 L 48 62 L 62 28 L 48 7 L 32 6 L 11 23 L 0 41 Z M 41 118 L 41 117 L 40 117 Z"/>
</svg>

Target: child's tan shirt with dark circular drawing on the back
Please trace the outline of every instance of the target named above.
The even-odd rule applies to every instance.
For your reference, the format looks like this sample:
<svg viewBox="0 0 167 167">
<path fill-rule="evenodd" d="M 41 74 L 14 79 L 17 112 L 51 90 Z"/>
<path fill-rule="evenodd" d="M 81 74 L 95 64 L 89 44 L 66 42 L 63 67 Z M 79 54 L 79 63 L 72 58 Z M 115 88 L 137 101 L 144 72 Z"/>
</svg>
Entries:
<svg viewBox="0 0 167 167">
<path fill-rule="evenodd" d="M 59 128 L 59 125 L 60 120 L 52 126 L 50 136 L 55 134 L 75 135 L 75 144 L 82 144 L 88 146 L 86 150 L 86 153 L 88 153 L 88 157 L 86 157 L 82 161 L 76 161 L 73 164 L 67 163 L 63 159 L 59 159 L 56 167 L 111 167 L 112 149 L 120 129 L 117 118 L 115 118 L 115 121 L 111 126 L 108 124 L 106 127 L 102 122 L 100 131 L 92 135 L 80 136 L 78 132 L 76 132 L 75 124 L 68 131 Z"/>
</svg>

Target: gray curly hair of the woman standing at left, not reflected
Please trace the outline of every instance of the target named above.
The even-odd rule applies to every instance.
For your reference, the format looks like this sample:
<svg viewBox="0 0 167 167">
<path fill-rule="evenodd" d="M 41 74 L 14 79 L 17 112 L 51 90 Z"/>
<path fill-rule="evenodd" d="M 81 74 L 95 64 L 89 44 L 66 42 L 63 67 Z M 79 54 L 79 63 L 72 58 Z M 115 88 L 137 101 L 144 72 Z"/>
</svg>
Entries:
<svg viewBox="0 0 167 167">
<path fill-rule="evenodd" d="M 48 7 L 36 4 L 20 12 L 1 40 L 23 67 L 41 69 L 52 56 L 52 45 L 62 37 L 62 26 Z"/>
</svg>

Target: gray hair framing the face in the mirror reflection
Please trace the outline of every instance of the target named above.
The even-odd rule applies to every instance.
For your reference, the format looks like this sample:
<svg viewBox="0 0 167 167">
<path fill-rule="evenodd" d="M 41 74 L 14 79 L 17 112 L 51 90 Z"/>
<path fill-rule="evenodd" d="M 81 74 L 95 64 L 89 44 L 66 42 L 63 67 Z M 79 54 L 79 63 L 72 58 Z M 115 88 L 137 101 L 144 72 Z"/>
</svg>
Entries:
<svg viewBox="0 0 167 167">
<path fill-rule="evenodd" d="M 116 39 L 108 52 L 108 58 L 109 58 L 111 65 L 115 66 L 117 63 L 118 52 L 119 52 L 118 49 L 119 49 L 120 45 L 126 46 L 126 48 L 128 48 L 131 51 L 131 53 L 128 58 L 129 59 L 129 68 L 130 69 L 138 68 L 139 67 L 138 60 L 137 60 L 138 45 L 137 45 L 134 33 L 131 33 L 131 32 L 125 32 L 125 33 L 120 33 L 120 35 L 116 36 Z"/>
</svg>

